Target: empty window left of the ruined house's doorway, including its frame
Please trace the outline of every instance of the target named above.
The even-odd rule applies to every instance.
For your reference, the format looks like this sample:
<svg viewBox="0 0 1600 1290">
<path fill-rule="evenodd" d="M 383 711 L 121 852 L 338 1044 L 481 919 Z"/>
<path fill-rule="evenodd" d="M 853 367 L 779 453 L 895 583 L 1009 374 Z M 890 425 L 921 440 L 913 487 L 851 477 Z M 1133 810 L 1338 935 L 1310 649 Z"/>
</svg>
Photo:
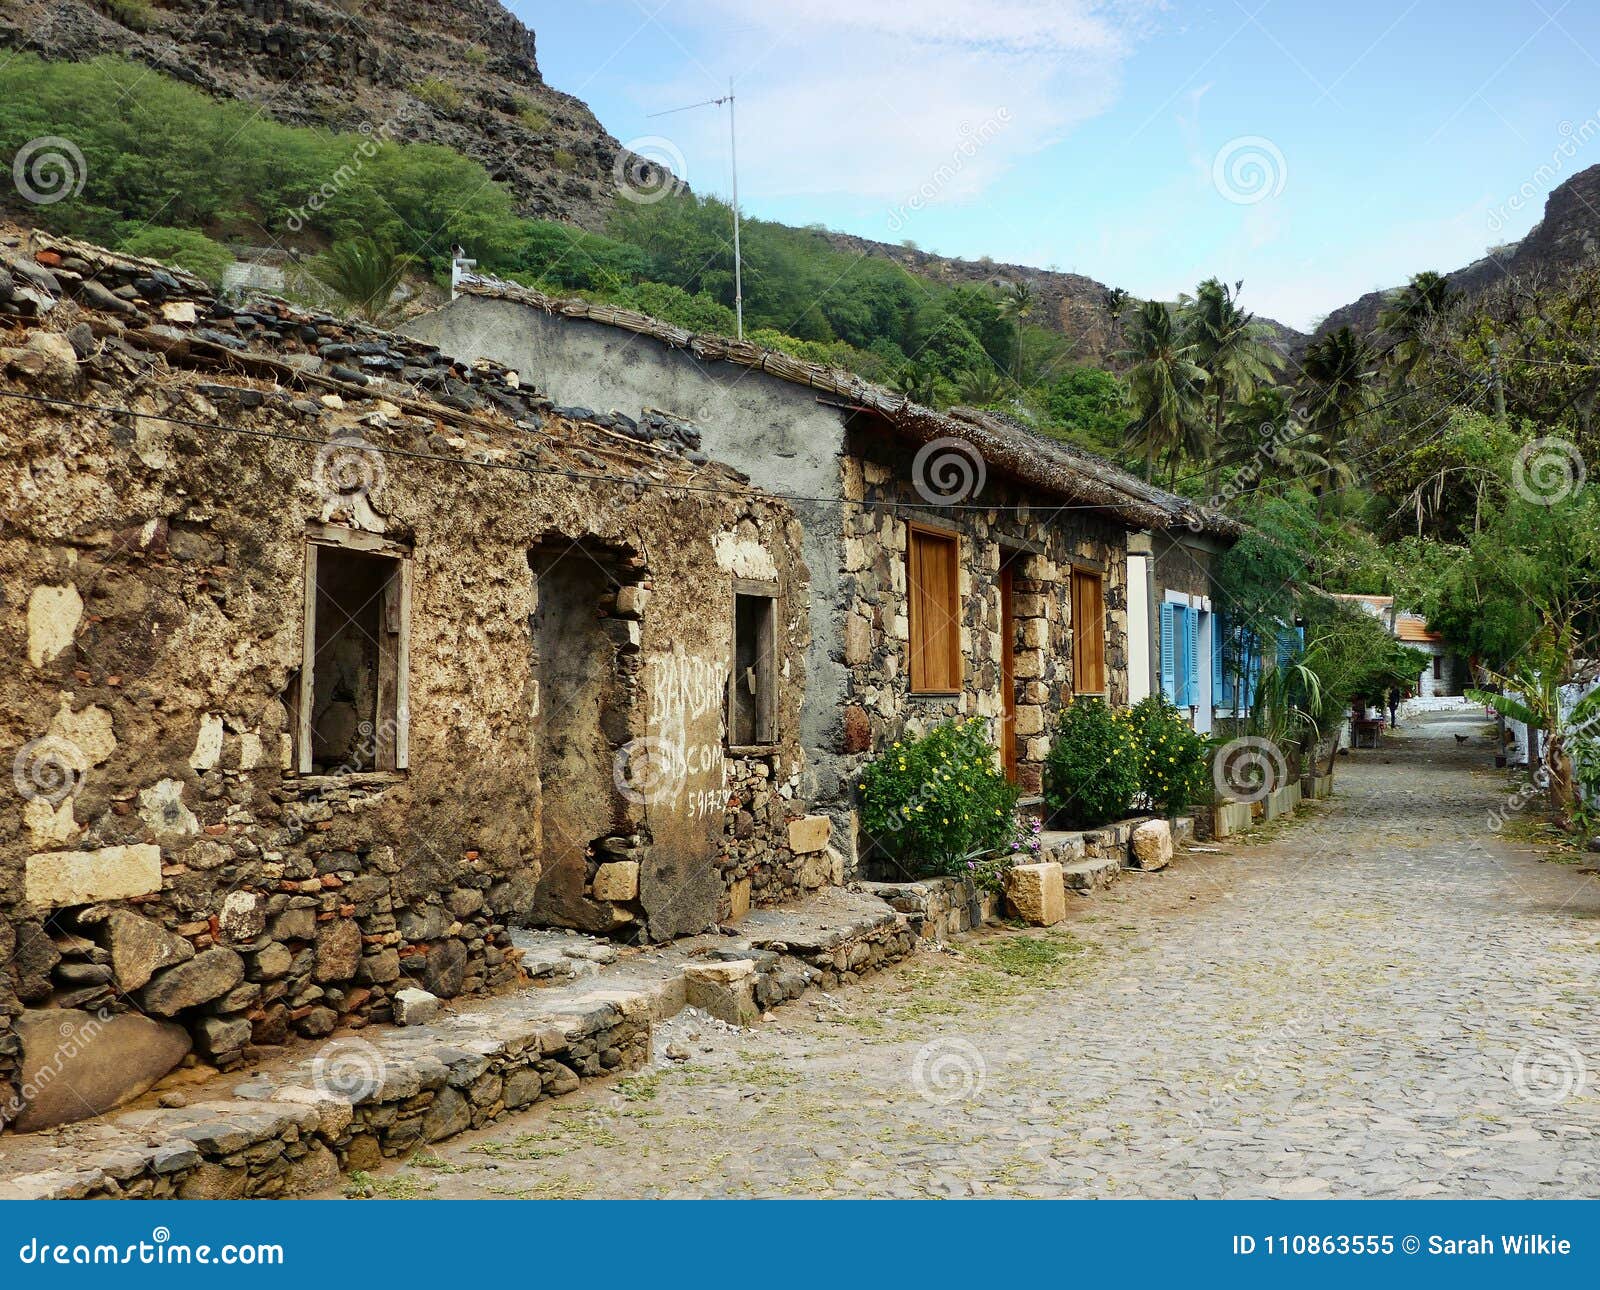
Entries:
<svg viewBox="0 0 1600 1290">
<path fill-rule="evenodd" d="M 405 547 L 354 530 L 314 533 L 294 712 L 302 775 L 410 765 L 410 623 Z"/>
</svg>

